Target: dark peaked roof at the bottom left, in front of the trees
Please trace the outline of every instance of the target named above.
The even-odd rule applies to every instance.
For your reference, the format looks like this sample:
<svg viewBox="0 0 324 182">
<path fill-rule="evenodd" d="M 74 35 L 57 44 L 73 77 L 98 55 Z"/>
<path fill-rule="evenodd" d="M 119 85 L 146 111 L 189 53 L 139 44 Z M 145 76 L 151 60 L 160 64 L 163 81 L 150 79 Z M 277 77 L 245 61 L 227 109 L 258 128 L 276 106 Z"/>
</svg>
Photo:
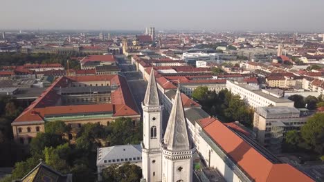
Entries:
<svg viewBox="0 0 324 182">
<path fill-rule="evenodd" d="M 39 163 L 33 170 L 31 170 L 21 181 L 53 181 L 53 182 L 71 182 L 71 174 L 61 174 L 53 168 Z"/>
</svg>

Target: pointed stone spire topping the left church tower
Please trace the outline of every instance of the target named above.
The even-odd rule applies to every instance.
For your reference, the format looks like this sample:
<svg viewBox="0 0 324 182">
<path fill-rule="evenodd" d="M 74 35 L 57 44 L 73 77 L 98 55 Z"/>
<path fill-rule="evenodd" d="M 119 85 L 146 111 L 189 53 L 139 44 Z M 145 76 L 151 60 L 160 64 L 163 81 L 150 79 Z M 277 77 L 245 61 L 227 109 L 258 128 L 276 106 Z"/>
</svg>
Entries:
<svg viewBox="0 0 324 182">
<path fill-rule="evenodd" d="M 157 90 L 156 80 L 154 76 L 154 70 L 152 67 L 150 79 L 147 83 L 147 88 L 145 92 L 145 98 L 143 101 L 144 105 L 161 105 L 159 99 L 159 92 Z"/>
</svg>

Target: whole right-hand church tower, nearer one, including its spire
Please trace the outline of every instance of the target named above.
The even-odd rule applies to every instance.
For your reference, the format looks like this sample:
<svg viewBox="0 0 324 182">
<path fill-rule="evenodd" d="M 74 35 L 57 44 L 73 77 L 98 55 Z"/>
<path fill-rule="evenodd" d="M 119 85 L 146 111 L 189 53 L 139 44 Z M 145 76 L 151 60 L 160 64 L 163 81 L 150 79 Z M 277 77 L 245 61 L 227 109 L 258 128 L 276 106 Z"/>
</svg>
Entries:
<svg viewBox="0 0 324 182">
<path fill-rule="evenodd" d="M 188 136 L 188 125 L 183 110 L 181 92 L 178 88 L 170 113 L 162 150 L 162 181 L 181 182 L 192 181 L 192 148 Z"/>
</svg>

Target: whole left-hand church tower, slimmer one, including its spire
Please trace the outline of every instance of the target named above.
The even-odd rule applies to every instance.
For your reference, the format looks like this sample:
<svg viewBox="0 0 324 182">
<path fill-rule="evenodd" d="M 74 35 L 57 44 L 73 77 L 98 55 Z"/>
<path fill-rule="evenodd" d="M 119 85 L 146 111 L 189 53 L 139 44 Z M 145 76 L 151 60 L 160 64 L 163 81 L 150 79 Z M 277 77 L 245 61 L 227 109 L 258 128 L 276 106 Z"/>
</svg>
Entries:
<svg viewBox="0 0 324 182">
<path fill-rule="evenodd" d="M 142 170 L 143 179 L 150 182 L 161 181 L 161 148 L 163 104 L 159 99 L 154 70 L 152 68 L 147 83 L 143 108 Z"/>
</svg>

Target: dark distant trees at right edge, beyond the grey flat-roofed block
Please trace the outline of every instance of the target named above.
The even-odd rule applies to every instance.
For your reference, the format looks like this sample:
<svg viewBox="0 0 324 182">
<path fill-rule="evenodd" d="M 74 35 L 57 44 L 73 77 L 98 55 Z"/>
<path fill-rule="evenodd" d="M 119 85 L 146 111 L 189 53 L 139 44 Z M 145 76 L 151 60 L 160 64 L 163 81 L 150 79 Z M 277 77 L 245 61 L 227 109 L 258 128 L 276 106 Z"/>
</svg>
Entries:
<svg viewBox="0 0 324 182">
<path fill-rule="evenodd" d="M 321 106 L 324 106 L 323 96 L 319 97 L 307 96 L 304 98 L 300 94 L 294 94 L 288 97 L 289 100 L 294 101 L 295 108 L 307 108 L 308 110 L 316 110 Z"/>
</svg>

